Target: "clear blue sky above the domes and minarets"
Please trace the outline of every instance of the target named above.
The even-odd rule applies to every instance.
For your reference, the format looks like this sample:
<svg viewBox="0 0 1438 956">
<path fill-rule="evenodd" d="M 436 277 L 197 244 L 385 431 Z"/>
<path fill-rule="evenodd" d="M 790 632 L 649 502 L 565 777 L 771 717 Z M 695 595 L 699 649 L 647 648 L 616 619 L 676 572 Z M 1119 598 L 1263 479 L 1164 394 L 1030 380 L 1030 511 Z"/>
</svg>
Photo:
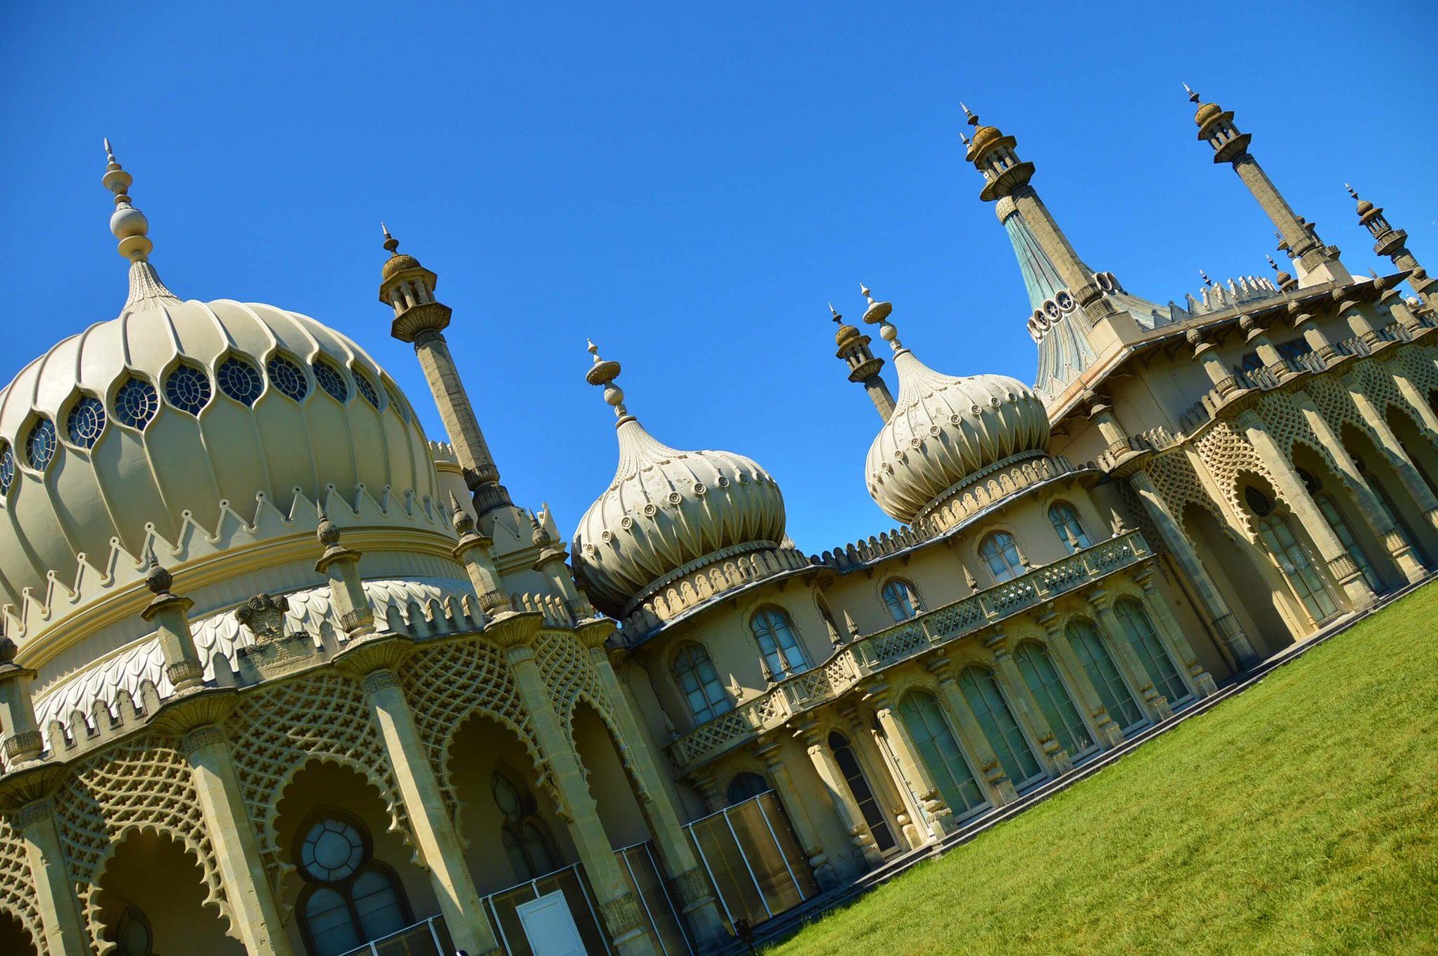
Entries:
<svg viewBox="0 0 1438 956">
<path fill-rule="evenodd" d="M 387 220 L 440 275 L 506 484 L 565 532 L 615 460 L 587 335 L 661 440 L 764 463 L 810 552 L 893 523 L 864 492 L 880 423 L 825 300 L 857 318 L 864 280 L 935 368 L 1032 381 L 959 99 L 1139 295 L 1263 273 L 1274 246 L 1195 141 L 1183 81 L 1237 112 L 1355 272 L 1378 263 L 1345 180 L 1438 270 L 1431 1 L 262 6 L 0 14 L 0 381 L 124 300 L 105 135 L 181 298 L 345 331 L 439 437 L 375 299 Z"/>
</svg>

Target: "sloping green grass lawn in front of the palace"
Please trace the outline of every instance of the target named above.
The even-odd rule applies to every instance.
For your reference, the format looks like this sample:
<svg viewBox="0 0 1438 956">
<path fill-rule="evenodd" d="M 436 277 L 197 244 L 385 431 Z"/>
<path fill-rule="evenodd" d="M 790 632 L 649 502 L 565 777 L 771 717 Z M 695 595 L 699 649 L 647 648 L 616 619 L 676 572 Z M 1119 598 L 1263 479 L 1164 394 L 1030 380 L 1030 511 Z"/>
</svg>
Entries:
<svg viewBox="0 0 1438 956">
<path fill-rule="evenodd" d="M 1438 952 L 1438 587 L 766 956 Z"/>
</svg>

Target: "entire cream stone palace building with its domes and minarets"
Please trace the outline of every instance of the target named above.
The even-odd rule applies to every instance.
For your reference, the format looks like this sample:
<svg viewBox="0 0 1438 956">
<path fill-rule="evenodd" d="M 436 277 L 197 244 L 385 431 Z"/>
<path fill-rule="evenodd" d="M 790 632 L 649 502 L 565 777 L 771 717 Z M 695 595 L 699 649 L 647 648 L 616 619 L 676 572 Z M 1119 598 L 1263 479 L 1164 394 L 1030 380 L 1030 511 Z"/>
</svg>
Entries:
<svg viewBox="0 0 1438 956">
<path fill-rule="evenodd" d="M 1201 104 L 1297 277 L 1159 306 L 969 116 L 1038 381 L 930 369 L 864 289 L 890 391 L 834 312 L 903 526 L 812 556 L 758 463 L 650 436 L 597 348 L 618 469 L 567 548 L 500 484 L 436 273 L 385 233 L 453 444 L 338 332 L 174 296 L 111 155 L 121 318 L 0 394 L 0 952 L 528 952 L 515 900 L 555 887 L 595 952 L 705 950 L 739 919 L 707 815 L 772 789 L 775 873 L 838 887 L 1424 579 L 1438 300 L 1383 210 L 1395 272 L 1353 279 Z"/>
</svg>

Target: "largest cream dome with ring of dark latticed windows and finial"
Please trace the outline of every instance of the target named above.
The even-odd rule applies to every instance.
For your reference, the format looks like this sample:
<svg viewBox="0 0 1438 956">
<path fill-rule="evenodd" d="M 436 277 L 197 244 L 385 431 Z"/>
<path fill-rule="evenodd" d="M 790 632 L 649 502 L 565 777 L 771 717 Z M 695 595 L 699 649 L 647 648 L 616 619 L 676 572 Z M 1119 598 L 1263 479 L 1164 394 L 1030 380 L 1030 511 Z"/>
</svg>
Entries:
<svg viewBox="0 0 1438 956">
<path fill-rule="evenodd" d="M 78 555 L 101 566 L 151 532 L 210 533 L 226 510 L 250 522 L 260 499 L 286 510 L 296 489 L 434 493 L 418 421 L 364 349 L 275 306 L 183 302 L 148 262 L 114 154 L 104 183 L 129 296 L 0 390 L 0 604 L 43 598 L 50 574 L 69 587 Z"/>
</svg>

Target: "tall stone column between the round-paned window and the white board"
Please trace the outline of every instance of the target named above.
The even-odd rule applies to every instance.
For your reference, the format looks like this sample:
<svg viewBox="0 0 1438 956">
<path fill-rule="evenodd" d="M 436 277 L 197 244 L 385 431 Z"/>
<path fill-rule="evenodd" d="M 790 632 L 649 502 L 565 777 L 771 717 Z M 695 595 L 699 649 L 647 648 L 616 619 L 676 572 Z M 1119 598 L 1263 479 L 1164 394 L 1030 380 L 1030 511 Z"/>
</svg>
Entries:
<svg viewBox="0 0 1438 956">
<path fill-rule="evenodd" d="M 380 732 L 385 759 L 410 817 L 416 850 L 429 870 L 430 886 L 454 944 L 476 955 L 499 953 L 464 861 L 463 842 L 444 805 L 439 776 L 394 673 L 413 650 L 413 641 L 406 637 L 370 637 L 341 653 L 335 666 L 357 677 L 364 687 L 370 719 Z"/>
</svg>

